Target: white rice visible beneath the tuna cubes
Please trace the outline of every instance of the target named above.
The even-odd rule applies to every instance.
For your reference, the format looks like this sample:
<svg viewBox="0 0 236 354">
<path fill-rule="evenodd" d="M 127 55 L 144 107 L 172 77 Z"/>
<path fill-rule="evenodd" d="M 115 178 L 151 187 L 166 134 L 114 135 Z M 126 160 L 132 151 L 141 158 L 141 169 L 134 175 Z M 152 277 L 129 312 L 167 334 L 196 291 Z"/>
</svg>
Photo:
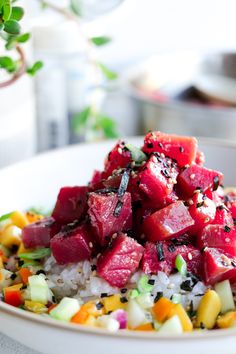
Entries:
<svg viewBox="0 0 236 354">
<path fill-rule="evenodd" d="M 72 296 L 84 301 L 99 297 L 102 293 L 108 295 L 119 293 L 118 288 L 110 286 L 96 274 L 96 271 L 91 269 L 93 264 L 96 265 L 96 260 L 61 266 L 56 263 L 52 256 L 49 257 L 44 263 L 49 287 L 58 298 Z M 136 272 L 126 287 L 135 288 L 142 275 L 142 272 Z M 169 299 L 174 294 L 181 294 L 182 305 L 187 308 L 191 304 L 193 310 L 196 310 L 202 295 L 206 291 L 206 286 L 201 281 L 192 286 L 191 291 L 181 289 L 181 284 L 184 281 L 191 281 L 191 285 L 193 283 L 190 277 L 183 277 L 179 273 L 168 277 L 165 273 L 158 272 L 157 275 L 152 275 L 151 279 L 155 281 L 152 290 L 154 298 L 157 293 L 162 293 L 164 297 Z"/>
</svg>

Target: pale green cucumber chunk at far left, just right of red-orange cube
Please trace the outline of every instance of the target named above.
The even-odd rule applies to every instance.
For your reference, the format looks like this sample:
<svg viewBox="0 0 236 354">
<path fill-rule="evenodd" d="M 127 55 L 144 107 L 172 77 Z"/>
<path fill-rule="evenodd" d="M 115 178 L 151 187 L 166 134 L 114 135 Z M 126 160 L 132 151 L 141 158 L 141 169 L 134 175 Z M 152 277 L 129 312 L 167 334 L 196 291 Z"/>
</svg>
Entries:
<svg viewBox="0 0 236 354">
<path fill-rule="evenodd" d="M 29 277 L 29 290 L 31 301 L 40 302 L 44 305 L 46 305 L 48 301 L 52 301 L 52 292 L 43 274 Z"/>
</svg>

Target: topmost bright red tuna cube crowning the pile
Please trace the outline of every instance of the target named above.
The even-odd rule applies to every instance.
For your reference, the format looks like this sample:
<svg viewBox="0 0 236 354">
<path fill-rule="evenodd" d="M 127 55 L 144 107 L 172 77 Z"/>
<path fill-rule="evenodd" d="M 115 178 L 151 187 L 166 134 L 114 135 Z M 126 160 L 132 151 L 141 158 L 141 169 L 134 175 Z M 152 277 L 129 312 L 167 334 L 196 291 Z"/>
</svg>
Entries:
<svg viewBox="0 0 236 354">
<path fill-rule="evenodd" d="M 180 167 L 191 165 L 197 155 L 197 140 L 192 137 L 150 132 L 144 138 L 143 151 L 164 153 L 175 159 Z"/>
</svg>

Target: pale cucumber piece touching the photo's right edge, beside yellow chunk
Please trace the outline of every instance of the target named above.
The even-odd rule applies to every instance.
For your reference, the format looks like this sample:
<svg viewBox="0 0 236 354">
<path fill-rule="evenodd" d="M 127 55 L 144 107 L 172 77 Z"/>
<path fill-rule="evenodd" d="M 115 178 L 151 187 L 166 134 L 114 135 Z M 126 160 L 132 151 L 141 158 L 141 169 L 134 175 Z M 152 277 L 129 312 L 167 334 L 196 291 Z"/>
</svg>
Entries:
<svg viewBox="0 0 236 354">
<path fill-rule="evenodd" d="M 221 312 L 225 313 L 235 309 L 234 298 L 229 280 L 224 280 L 215 285 L 215 291 L 221 300 Z"/>
</svg>

